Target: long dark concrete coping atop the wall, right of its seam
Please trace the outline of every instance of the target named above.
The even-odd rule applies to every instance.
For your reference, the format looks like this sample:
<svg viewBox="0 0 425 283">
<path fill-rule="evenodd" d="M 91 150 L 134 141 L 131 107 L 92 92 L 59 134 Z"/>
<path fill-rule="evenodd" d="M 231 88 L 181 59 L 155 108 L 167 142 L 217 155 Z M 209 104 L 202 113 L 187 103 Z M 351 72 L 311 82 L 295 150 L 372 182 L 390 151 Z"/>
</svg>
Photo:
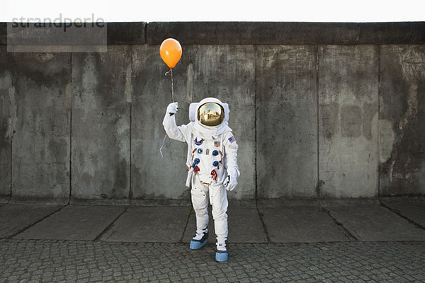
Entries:
<svg viewBox="0 0 425 283">
<path fill-rule="evenodd" d="M 108 23 L 108 34 L 109 26 L 114 27 L 116 24 Z M 150 22 L 147 23 L 147 42 L 161 44 L 164 38 L 174 37 L 178 38 L 182 45 L 424 44 L 424 28 L 424 22 Z M 130 35 L 127 35 L 128 30 Z M 137 30 L 130 26 L 121 33 L 134 38 L 135 31 Z"/>
</svg>

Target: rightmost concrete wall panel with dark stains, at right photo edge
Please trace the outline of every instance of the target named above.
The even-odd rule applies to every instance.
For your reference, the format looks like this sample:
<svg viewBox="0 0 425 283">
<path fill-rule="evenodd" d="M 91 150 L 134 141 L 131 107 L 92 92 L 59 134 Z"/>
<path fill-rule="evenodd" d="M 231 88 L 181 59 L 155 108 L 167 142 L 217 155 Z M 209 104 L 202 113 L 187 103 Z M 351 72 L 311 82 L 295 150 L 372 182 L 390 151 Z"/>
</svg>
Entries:
<svg viewBox="0 0 425 283">
<path fill-rule="evenodd" d="M 384 45 L 380 195 L 425 194 L 425 46 Z"/>
</svg>

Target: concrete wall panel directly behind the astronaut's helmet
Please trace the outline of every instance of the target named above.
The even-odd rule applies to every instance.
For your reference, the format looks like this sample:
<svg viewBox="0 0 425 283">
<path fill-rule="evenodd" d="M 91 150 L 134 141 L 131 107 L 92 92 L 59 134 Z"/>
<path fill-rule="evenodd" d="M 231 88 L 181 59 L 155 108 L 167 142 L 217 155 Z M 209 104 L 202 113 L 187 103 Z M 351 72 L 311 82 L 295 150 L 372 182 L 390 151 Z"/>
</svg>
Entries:
<svg viewBox="0 0 425 283">
<path fill-rule="evenodd" d="M 253 199 L 256 192 L 254 47 L 194 45 L 191 75 L 193 101 L 212 96 L 229 103 L 229 127 L 239 145 L 237 163 L 241 175 L 237 189 L 227 195 L 229 199 Z"/>
</svg>

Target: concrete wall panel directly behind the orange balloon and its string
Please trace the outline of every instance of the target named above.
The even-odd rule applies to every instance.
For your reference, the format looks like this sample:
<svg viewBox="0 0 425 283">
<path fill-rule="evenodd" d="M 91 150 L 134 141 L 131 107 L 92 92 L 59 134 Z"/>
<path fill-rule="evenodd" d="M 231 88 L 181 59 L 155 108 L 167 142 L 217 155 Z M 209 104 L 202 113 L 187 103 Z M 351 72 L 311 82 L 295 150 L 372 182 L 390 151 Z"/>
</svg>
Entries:
<svg viewBox="0 0 425 283">
<path fill-rule="evenodd" d="M 159 45 L 132 47 L 132 198 L 190 199 L 185 186 L 187 145 L 166 137 L 162 120 L 171 103 L 171 73 L 159 57 Z M 174 67 L 174 96 L 179 103 L 177 125 L 187 124 L 193 96 L 192 47 L 184 46 Z"/>
</svg>

